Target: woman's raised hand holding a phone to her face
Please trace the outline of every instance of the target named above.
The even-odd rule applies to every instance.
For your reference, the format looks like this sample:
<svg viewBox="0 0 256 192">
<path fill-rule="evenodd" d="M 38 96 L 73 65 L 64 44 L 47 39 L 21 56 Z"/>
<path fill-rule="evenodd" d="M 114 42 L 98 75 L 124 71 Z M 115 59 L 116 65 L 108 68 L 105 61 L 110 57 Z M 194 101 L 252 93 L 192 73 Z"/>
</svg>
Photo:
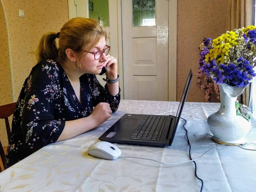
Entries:
<svg viewBox="0 0 256 192">
<path fill-rule="evenodd" d="M 107 79 L 114 80 L 117 79 L 117 60 L 111 55 L 107 55 L 107 61 L 105 61 L 107 67 L 106 76 Z"/>
</svg>

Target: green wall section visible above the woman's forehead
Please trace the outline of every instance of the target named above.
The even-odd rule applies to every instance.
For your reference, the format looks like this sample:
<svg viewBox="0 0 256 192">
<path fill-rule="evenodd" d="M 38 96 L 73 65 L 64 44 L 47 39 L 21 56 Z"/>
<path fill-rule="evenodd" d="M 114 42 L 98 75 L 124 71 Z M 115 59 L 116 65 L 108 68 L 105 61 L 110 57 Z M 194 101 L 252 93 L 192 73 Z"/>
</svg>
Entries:
<svg viewBox="0 0 256 192">
<path fill-rule="evenodd" d="M 99 17 L 104 20 L 104 26 L 109 26 L 108 0 L 91 0 L 93 2 L 93 12 L 89 11 L 89 18 L 99 21 Z"/>
</svg>

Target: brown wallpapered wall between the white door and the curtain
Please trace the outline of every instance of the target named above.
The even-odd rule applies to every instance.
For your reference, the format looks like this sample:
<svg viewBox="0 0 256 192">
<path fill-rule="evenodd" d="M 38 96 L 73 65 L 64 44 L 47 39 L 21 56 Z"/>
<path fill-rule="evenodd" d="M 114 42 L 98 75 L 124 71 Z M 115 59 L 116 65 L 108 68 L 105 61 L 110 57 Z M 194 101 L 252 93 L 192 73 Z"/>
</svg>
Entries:
<svg viewBox="0 0 256 192">
<path fill-rule="evenodd" d="M 177 100 L 192 68 L 193 79 L 187 101 L 204 102 L 204 91 L 195 84 L 198 47 L 204 37 L 213 39 L 226 32 L 227 7 L 227 0 L 177 0 Z M 212 101 L 218 102 L 217 99 Z"/>
</svg>

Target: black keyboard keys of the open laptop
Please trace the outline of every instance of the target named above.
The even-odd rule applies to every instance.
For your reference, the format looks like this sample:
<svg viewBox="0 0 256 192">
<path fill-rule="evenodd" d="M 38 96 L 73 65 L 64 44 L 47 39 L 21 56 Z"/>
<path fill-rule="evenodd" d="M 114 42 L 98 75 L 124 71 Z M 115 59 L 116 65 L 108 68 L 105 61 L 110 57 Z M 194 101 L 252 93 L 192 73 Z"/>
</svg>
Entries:
<svg viewBox="0 0 256 192">
<path fill-rule="evenodd" d="M 139 125 L 131 136 L 131 140 L 160 141 L 167 116 L 145 116 L 144 125 Z"/>
</svg>

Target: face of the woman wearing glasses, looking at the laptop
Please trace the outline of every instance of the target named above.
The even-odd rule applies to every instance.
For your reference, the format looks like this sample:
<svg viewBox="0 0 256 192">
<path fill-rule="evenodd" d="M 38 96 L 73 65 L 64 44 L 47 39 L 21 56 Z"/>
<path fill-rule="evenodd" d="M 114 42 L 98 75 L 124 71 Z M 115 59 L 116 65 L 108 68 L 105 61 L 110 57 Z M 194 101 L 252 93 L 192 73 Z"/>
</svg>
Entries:
<svg viewBox="0 0 256 192">
<path fill-rule="evenodd" d="M 103 66 L 106 65 L 106 55 L 102 54 L 102 57 L 99 60 L 95 60 L 94 54 L 90 52 L 102 51 L 102 49 L 104 49 L 105 46 L 106 40 L 104 37 L 102 37 L 95 47 L 93 47 L 90 50 L 85 50 L 89 52 L 84 52 L 84 56 L 82 56 L 80 59 L 81 70 L 83 73 L 99 74 L 102 71 Z"/>
</svg>

